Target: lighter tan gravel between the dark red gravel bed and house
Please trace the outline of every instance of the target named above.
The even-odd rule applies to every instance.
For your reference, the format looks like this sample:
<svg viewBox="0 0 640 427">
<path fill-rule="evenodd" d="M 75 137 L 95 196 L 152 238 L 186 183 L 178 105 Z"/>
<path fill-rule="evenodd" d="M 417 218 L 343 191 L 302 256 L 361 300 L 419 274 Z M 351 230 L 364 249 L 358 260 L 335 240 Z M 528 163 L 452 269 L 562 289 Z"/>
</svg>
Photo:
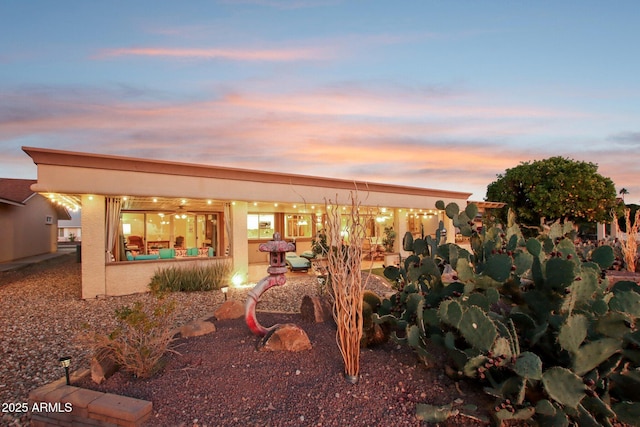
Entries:
<svg viewBox="0 0 640 427">
<path fill-rule="evenodd" d="M 389 291 L 384 281 L 372 276 L 368 288 Z M 244 300 L 250 288 L 231 289 L 229 298 Z M 304 295 L 316 295 L 315 277 L 298 273 L 282 287 L 264 294 L 257 309 L 295 313 Z M 220 292 L 175 294 L 176 325 L 215 311 L 223 302 Z M 149 298 L 146 294 L 80 298 L 80 264 L 75 255 L 63 255 L 18 271 L 0 273 L 0 404 L 27 402 L 31 390 L 64 375 L 58 364 L 71 356 L 72 370 L 89 366 L 87 350 L 77 344 L 77 335 L 89 326 L 110 331 L 114 310 Z M 0 413 L 0 425 L 28 425 L 26 414 Z"/>
</svg>

